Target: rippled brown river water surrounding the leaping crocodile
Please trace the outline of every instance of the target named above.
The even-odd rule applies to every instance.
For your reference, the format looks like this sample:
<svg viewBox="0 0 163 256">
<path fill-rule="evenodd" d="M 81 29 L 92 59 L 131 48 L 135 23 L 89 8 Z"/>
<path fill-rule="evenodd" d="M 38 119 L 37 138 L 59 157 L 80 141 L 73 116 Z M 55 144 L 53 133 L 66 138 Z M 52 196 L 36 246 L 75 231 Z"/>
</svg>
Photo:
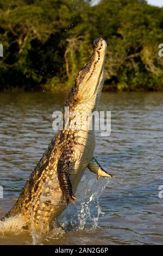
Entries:
<svg viewBox="0 0 163 256">
<path fill-rule="evenodd" d="M 0 217 L 15 202 L 26 179 L 51 141 L 52 113 L 65 94 L 0 95 Z M 35 237 L 15 228 L 0 228 L 0 244 L 112 245 L 163 244 L 163 93 L 103 93 L 100 110 L 111 111 L 111 135 L 97 132 L 95 156 L 115 179 L 99 179 L 87 171 L 78 201 L 68 206 L 53 230 Z M 15 225 L 14 225 L 15 224 Z"/>
</svg>

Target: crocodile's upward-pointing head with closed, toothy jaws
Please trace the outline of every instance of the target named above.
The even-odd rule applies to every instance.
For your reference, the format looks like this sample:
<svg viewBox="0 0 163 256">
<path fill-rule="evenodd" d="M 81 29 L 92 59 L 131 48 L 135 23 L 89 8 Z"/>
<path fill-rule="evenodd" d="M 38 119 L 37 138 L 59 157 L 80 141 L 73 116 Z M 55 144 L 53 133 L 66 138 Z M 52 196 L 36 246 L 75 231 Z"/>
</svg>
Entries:
<svg viewBox="0 0 163 256">
<path fill-rule="evenodd" d="M 77 105 L 92 105 L 94 110 L 99 101 L 104 82 L 104 61 L 107 45 L 105 40 L 98 38 L 93 42 L 93 53 L 90 62 L 84 66 L 76 77 L 74 87 L 68 95 L 66 105 L 77 108 Z"/>
</svg>

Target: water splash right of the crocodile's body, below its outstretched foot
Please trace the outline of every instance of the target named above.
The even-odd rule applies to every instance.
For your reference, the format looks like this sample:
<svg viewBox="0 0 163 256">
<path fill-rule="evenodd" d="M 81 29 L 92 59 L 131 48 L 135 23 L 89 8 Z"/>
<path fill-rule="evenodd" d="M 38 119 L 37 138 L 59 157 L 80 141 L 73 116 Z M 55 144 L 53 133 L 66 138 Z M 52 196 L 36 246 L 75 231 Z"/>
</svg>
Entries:
<svg viewBox="0 0 163 256">
<path fill-rule="evenodd" d="M 77 202 L 70 204 L 57 218 L 61 227 L 67 230 L 91 230 L 98 227 L 100 215 L 104 215 L 99 205 L 99 197 L 108 185 L 109 179 L 97 180 L 95 174 L 86 170 L 76 193 Z"/>
</svg>

